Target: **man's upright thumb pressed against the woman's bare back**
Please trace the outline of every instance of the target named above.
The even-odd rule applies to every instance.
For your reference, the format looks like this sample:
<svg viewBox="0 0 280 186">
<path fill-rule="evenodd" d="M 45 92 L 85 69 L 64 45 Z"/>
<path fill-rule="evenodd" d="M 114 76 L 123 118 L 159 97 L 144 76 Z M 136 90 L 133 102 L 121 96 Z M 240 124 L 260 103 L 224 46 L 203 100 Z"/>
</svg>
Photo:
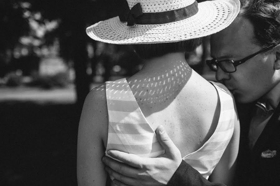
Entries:
<svg viewBox="0 0 280 186">
<path fill-rule="evenodd" d="M 166 154 L 175 155 L 175 153 L 180 153 L 179 149 L 175 146 L 173 141 L 169 138 L 165 129 L 162 125 L 158 126 L 156 129 L 156 137 L 161 143 L 162 147 L 165 149 Z"/>
</svg>

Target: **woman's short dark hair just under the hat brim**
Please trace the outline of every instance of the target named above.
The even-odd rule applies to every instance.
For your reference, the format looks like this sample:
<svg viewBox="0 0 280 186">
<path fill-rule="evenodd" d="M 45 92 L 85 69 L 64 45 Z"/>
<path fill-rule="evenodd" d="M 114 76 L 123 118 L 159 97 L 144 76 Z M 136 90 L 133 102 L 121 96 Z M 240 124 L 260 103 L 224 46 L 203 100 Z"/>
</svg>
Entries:
<svg viewBox="0 0 280 186">
<path fill-rule="evenodd" d="M 168 53 L 194 51 L 201 42 L 202 38 L 196 38 L 180 42 L 137 44 L 133 48 L 142 59 L 151 59 Z"/>
</svg>

